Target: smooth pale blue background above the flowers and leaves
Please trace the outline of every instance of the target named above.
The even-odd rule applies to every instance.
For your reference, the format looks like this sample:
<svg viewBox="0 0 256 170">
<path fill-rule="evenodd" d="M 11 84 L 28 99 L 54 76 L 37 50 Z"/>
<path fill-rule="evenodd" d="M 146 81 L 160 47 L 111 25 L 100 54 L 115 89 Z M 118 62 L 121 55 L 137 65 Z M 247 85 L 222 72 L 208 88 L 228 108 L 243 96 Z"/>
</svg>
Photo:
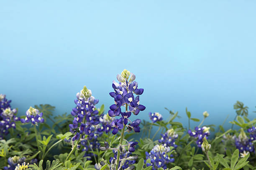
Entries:
<svg viewBox="0 0 256 170">
<path fill-rule="evenodd" d="M 87 85 L 108 110 L 126 68 L 144 88 L 138 118 L 166 118 L 168 107 L 187 126 L 187 106 L 220 125 L 235 116 L 236 100 L 254 118 L 255 9 L 253 0 L 1 1 L 0 93 L 19 115 L 41 103 L 62 114 Z"/>
</svg>

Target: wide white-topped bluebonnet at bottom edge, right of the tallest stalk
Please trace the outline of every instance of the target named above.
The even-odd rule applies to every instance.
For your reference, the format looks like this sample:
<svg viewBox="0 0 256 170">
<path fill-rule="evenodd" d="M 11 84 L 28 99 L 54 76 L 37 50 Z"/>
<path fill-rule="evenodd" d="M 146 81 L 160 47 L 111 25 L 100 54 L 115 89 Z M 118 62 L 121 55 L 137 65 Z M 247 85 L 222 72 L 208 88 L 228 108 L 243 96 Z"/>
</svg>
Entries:
<svg viewBox="0 0 256 170">
<path fill-rule="evenodd" d="M 170 148 L 164 145 L 155 145 L 154 148 L 150 151 L 150 153 L 146 152 L 146 159 L 150 160 L 150 163 L 146 163 L 146 166 L 153 166 L 152 170 L 157 170 L 158 168 L 166 169 L 166 164 L 173 163 L 174 158 L 172 154 L 168 156 L 170 152 Z"/>
</svg>

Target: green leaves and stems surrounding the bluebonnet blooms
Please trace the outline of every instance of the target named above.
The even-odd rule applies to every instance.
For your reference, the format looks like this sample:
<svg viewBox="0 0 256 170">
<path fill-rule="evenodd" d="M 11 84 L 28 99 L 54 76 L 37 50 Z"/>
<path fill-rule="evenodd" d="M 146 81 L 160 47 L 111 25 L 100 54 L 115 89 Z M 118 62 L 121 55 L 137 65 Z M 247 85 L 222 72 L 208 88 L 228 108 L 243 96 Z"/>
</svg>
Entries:
<svg viewBox="0 0 256 170">
<path fill-rule="evenodd" d="M 75 149 L 74 153 L 71 153 L 72 145 L 64 142 L 73 137 L 73 134 L 69 132 L 69 124 L 72 123 L 73 117 L 67 113 L 57 115 L 54 118 L 53 112 L 55 107 L 51 105 L 35 105 L 39 111 L 44 112 L 44 116 L 47 120 L 51 120 L 53 123 L 45 122 L 40 123 L 36 127 L 38 136 L 39 150 L 35 140 L 35 129 L 28 125 L 22 125 L 20 122 L 16 123 L 16 130 L 10 132 L 9 140 L 0 140 L 0 169 L 8 165 L 8 158 L 13 156 L 25 157 L 25 162 L 30 162 L 36 158 L 41 160 L 39 163 L 29 165 L 31 170 L 95 170 L 95 163 L 100 164 L 100 170 L 110 170 L 110 157 L 114 157 L 112 150 L 99 150 L 98 148 L 89 148 L 84 151 L 83 146 Z M 164 118 L 161 121 L 155 123 L 142 120 L 141 122 L 141 136 L 138 133 L 127 133 L 125 132 L 125 139 L 128 141 L 138 141 L 135 152 L 132 155 L 137 155 L 135 170 L 152 170 L 152 166 L 146 166 L 146 163 L 150 163 L 151 160 L 146 159 L 146 152 L 150 152 L 155 145 L 159 144 L 158 136 L 161 133 L 165 133 L 167 130 L 172 129 L 173 132 L 178 134 L 178 138 L 175 139 L 177 148 L 170 147 L 170 152 L 166 153 L 167 156 L 173 155 L 174 163 L 167 164 L 166 170 L 253 170 L 256 169 L 256 154 L 250 153 L 243 155 L 236 149 L 234 136 L 238 137 L 240 132 L 244 132 L 245 135 L 249 136 L 247 129 L 256 125 L 256 118 L 250 120 L 248 115 L 248 107 L 244 106 L 242 102 L 236 102 L 234 109 L 236 109 L 236 119 L 231 121 L 232 125 L 237 125 L 240 130 L 228 129 L 224 123 L 218 125 L 205 125 L 203 122 L 206 117 L 195 118 L 191 112 L 187 110 L 186 115 L 188 117 L 188 123 L 183 125 L 177 118 L 180 118 L 178 112 L 171 111 L 165 108 L 169 112 L 169 117 Z M 104 105 L 101 105 L 97 109 L 99 115 L 104 114 Z M 210 114 L 211 116 L 211 114 Z M 209 117 L 210 117 L 209 116 Z M 24 117 L 23 117 L 24 118 Z M 202 120 L 200 122 L 200 120 Z M 210 127 L 212 137 L 208 138 L 208 143 L 211 148 L 207 153 L 202 152 L 202 149 L 197 146 L 195 138 L 190 137 L 187 133 L 190 127 L 190 121 L 194 123 L 198 122 L 198 126 Z M 224 121 L 225 122 L 225 121 Z M 50 125 L 52 124 L 52 125 Z M 202 127 L 201 126 L 201 127 Z M 156 138 L 147 138 L 149 129 L 151 127 L 158 128 L 158 131 L 154 134 Z M 215 133 L 213 133 L 215 131 Z M 17 135 L 19 137 L 17 138 Z M 86 138 L 87 136 L 84 136 Z M 225 138 L 224 138 L 225 137 Z M 137 140 L 136 140 L 137 139 Z M 119 141 L 117 135 L 110 133 L 102 133 L 97 138 L 100 145 L 104 145 L 105 141 L 108 141 L 110 148 L 117 148 Z M 89 141 L 90 142 L 90 141 Z M 122 145 L 125 150 L 128 150 L 127 142 L 123 141 Z M 256 148 L 256 143 L 254 143 Z M 92 156 L 84 157 L 85 154 L 93 153 L 95 158 Z M 104 158 L 104 159 L 102 159 Z M 49 159 L 49 160 L 47 160 Z M 55 159 L 55 160 L 54 160 Z M 90 159 L 90 160 L 87 160 Z M 43 161 L 47 160 L 47 161 Z M 50 161 L 52 160 L 52 162 Z M 156 168 L 156 167 L 154 167 Z M 122 170 L 122 169 L 121 169 Z M 158 170 L 164 170 L 158 168 Z"/>
</svg>

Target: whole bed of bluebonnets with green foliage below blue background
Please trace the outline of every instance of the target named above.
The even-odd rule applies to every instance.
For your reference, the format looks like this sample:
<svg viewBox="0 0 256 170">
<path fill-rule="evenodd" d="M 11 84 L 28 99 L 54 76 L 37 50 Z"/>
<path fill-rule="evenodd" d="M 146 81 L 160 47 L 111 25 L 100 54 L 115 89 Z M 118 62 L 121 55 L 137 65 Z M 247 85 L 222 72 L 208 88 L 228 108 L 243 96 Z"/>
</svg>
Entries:
<svg viewBox="0 0 256 170">
<path fill-rule="evenodd" d="M 99 100 L 84 86 L 74 94 L 71 114 L 55 117 L 55 107 L 49 104 L 28 106 L 26 113 L 17 117 L 18 109 L 1 94 L 0 169 L 256 169 L 256 119 L 247 118 L 248 107 L 242 102 L 233 106 L 234 121 L 223 120 L 222 125 L 205 125 L 209 113 L 192 118 L 187 108 L 187 117 L 182 117 L 187 125 L 178 122 L 178 112 L 167 108 L 169 117 L 149 112 L 148 119 L 140 120 L 136 115 L 146 106 L 140 101 L 143 88 L 135 77 L 128 70 L 117 75 L 109 93 L 113 105 L 106 110 L 104 105 L 96 106 Z M 190 121 L 198 126 L 190 127 Z M 233 124 L 232 128 L 224 130 L 224 123 Z M 152 128 L 158 130 L 149 138 Z M 214 134 L 211 138 L 210 133 Z M 156 138 L 157 134 L 161 138 Z"/>
</svg>

